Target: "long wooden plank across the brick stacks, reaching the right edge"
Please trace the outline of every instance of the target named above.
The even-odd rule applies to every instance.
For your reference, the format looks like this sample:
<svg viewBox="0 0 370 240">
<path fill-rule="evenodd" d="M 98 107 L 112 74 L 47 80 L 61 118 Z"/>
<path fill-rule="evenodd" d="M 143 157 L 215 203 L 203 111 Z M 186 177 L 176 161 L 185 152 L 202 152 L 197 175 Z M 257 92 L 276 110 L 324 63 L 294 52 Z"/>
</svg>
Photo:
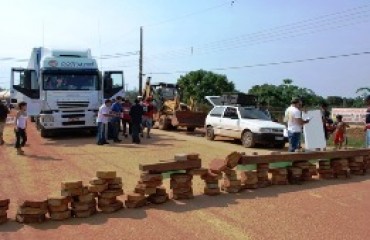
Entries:
<svg viewBox="0 0 370 240">
<path fill-rule="evenodd" d="M 308 161 L 315 159 L 349 158 L 356 156 L 370 156 L 370 149 L 347 149 L 325 152 L 297 152 L 270 155 L 244 155 L 239 161 L 240 165 L 275 162 Z"/>
</svg>

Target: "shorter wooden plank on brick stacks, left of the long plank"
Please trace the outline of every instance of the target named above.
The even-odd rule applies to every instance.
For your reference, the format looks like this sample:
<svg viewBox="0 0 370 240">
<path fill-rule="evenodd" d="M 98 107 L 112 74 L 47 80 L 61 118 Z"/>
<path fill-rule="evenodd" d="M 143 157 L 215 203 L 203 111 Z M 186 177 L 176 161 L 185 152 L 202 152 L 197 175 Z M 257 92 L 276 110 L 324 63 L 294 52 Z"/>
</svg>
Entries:
<svg viewBox="0 0 370 240">
<path fill-rule="evenodd" d="M 191 170 L 202 167 L 202 161 L 198 160 L 187 160 L 187 161 L 171 161 L 171 162 L 160 162 L 156 164 L 140 164 L 139 169 L 141 171 L 150 171 L 152 173 L 163 173 L 168 171 L 178 170 Z"/>
</svg>

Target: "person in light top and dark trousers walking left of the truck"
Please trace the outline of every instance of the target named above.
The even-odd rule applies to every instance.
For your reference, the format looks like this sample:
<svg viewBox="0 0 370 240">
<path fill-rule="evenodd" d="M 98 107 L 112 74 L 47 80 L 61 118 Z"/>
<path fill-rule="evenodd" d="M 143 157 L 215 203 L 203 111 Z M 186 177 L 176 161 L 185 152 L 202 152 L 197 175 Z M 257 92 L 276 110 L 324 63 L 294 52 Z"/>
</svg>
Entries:
<svg viewBox="0 0 370 240">
<path fill-rule="evenodd" d="M 20 102 L 18 104 L 18 112 L 14 120 L 14 132 L 16 137 L 15 148 L 19 155 L 23 155 L 24 147 L 27 141 L 26 128 L 27 128 L 27 103 Z"/>
</svg>

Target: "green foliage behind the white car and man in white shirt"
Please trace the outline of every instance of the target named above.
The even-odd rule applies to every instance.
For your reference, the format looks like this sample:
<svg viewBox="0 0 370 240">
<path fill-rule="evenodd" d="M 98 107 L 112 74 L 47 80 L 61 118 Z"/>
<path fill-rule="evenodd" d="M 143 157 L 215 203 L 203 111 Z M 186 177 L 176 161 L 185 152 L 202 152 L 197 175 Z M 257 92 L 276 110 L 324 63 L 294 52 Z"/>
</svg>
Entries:
<svg viewBox="0 0 370 240">
<path fill-rule="evenodd" d="M 284 79 L 283 84 L 278 86 L 272 84 L 255 85 L 248 93 L 256 95 L 259 101 L 266 101 L 271 107 L 279 108 L 288 106 L 293 97 L 302 98 L 307 106 L 318 106 L 324 101 L 311 89 L 293 85 L 291 79 Z"/>
</svg>

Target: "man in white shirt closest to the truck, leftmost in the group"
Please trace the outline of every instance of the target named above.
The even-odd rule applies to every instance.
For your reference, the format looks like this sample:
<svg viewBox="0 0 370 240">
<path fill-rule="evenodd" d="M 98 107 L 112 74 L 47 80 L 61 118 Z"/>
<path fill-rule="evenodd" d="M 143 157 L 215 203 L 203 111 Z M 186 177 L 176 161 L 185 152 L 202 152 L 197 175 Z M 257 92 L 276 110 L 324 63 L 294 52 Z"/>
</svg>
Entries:
<svg viewBox="0 0 370 240">
<path fill-rule="evenodd" d="M 105 100 L 104 104 L 100 106 L 98 111 L 98 117 L 96 122 L 98 123 L 98 136 L 97 136 L 97 144 L 103 145 L 108 144 L 106 136 L 106 128 L 109 122 L 110 108 L 112 105 L 112 101 L 110 99 Z"/>
</svg>

